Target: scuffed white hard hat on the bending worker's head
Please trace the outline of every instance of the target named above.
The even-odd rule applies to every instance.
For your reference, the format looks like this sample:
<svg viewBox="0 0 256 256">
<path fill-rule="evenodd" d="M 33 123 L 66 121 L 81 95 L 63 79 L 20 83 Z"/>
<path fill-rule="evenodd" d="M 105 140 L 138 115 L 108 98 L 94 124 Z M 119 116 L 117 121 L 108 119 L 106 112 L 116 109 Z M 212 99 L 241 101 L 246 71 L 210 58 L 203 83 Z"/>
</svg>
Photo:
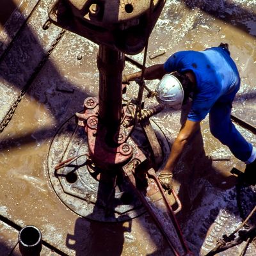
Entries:
<svg viewBox="0 0 256 256">
<path fill-rule="evenodd" d="M 184 99 L 182 84 L 177 77 L 166 74 L 156 87 L 157 100 L 174 109 L 180 109 Z"/>
</svg>

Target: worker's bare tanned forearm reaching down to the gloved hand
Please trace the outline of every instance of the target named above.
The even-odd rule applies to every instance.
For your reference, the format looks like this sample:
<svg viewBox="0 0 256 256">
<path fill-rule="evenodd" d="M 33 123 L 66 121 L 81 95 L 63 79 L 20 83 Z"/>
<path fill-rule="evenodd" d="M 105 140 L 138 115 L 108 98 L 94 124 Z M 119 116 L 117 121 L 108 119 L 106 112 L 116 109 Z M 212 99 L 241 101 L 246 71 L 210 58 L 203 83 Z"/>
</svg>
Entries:
<svg viewBox="0 0 256 256">
<path fill-rule="evenodd" d="M 163 168 L 164 173 L 172 173 L 175 165 L 179 161 L 179 158 L 184 150 L 185 145 L 193 137 L 196 131 L 200 130 L 200 121 L 193 122 L 186 120 L 185 124 L 181 127 L 179 135 L 175 139 L 172 145 L 172 151 L 168 157 L 166 164 Z"/>
</svg>

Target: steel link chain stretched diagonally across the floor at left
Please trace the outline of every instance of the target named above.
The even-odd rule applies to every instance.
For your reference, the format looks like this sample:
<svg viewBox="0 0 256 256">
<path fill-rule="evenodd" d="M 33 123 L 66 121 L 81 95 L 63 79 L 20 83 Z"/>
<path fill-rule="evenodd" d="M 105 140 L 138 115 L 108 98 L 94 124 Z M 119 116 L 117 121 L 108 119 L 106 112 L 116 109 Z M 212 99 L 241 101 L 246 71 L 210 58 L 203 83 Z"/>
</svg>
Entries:
<svg viewBox="0 0 256 256">
<path fill-rule="evenodd" d="M 38 65 L 36 66 L 34 72 L 31 74 L 31 76 L 29 77 L 27 83 L 25 84 L 25 86 L 22 88 L 22 90 L 20 90 L 19 96 L 17 97 L 17 99 L 15 100 L 15 102 L 13 102 L 11 108 L 9 109 L 8 113 L 6 114 L 6 116 L 4 116 L 3 121 L 0 124 L 0 134 L 1 132 L 4 131 L 4 128 L 10 123 L 10 121 L 12 120 L 12 117 L 15 113 L 15 110 L 17 109 L 20 101 L 22 100 L 23 96 L 25 95 L 25 93 L 28 91 L 29 87 L 31 86 L 31 84 L 33 83 L 35 77 L 38 75 L 38 73 L 40 72 L 40 70 L 42 69 L 42 67 L 44 67 L 45 62 L 48 60 L 49 56 L 51 55 L 52 51 L 54 50 L 54 48 L 56 47 L 56 45 L 58 44 L 58 42 L 60 42 L 62 36 L 65 33 L 65 29 L 62 29 L 60 34 L 58 35 L 58 37 L 54 40 L 54 42 L 51 45 L 51 48 L 47 51 L 47 53 L 45 54 L 44 58 L 42 58 L 42 60 L 40 61 L 40 63 L 38 63 Z"/>
</svg>

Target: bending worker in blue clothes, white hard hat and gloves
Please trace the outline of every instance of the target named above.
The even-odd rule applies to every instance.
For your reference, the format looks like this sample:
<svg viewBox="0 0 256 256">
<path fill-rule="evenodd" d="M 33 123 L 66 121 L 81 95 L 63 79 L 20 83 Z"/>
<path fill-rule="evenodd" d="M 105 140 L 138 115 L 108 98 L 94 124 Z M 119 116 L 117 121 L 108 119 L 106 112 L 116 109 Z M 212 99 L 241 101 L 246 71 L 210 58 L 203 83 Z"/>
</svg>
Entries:
<svg viewBox="0 0 256 256">
<path fill-rule="evenodd" d="M 141 71 L 123 76 L 129 83 L 141 76 Z M 200 122 L 209 113 L 212 135 L 230 148 L 237 159 L 246 163 L 243 180 L 256 183 L 256 148 L 246 141 L 230 120 L 232 102 L 240 86 L 236 64 L 230 57 L 228 44 L 205 51 L 175 52 L 164 64 L 145 68 L 145 79 L 161 79 L 156 92 L 159 102 L 174 109 L 191 97 L 191 109 L 180 128 L 170 156 L 159 172 L 164 189 L 172 187 L 175 165 L 188 141 L 200 130 Z"/>
</svg>

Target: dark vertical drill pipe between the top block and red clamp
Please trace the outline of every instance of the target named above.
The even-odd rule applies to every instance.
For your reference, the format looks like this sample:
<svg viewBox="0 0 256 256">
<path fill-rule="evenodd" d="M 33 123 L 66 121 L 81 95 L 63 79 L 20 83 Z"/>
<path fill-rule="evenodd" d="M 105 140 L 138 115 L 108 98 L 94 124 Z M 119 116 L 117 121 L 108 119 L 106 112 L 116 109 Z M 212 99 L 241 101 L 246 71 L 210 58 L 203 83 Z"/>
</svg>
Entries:
<svg viewBox="0 0 256 256">
<path fill-rule="evenodd" d="M 99 120 L 115 134 L 122 117 L 122 71 L 125 56 L 120 51 L 99 45 L 97 67 L 99 69 Z"/>
</svg>

